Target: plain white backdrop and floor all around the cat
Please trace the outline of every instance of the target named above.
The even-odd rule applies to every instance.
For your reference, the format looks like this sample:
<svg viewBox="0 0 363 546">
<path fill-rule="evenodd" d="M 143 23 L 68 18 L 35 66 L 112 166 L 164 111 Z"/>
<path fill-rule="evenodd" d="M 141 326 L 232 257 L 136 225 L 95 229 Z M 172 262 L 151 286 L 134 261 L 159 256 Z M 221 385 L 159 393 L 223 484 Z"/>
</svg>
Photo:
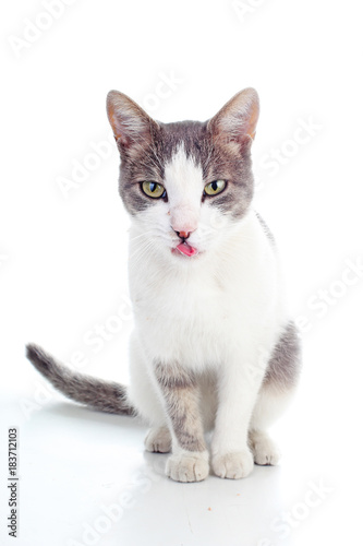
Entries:
<svg viewBox="0 0 363 546">
<path fill-rule="evenodd" d="M 14 543 L 4 521 L 10 426 L 20 435 L 21 546 L 360 543 L 359 2 L 246 0 L 240 10 L 229 0 L 68 3 L 57 17 L 45 15 L 46 1 L 1 5 L 1 544 Z M 245 86 L 262 104 L 255 207 L 285 263 L 304 372 L 276 427 L 280 467 L 255 468 L 242 482 L 174 484 L 162 476 L 165 456 L 144 453 L 144 425 L 46 390 L 24 344 L 126 381 L 129 221 L 119 159 L 105 144 L 107 157 L 89 159 L 111 136 L 106 94 L 122 91 L 161 121 L 204 120 Z M 310 133 L 298 131 L 302 123 Z M 60 180 L 74 186 L 80 163 L 92 169 L 62 191 Z M 97 324 L 113 332 L 89 345 Z M 117 521 L 102 512 L 110 505 L 119 507 Z M 282 518 L 290 523 L 281 526 Z"/>
</svg>

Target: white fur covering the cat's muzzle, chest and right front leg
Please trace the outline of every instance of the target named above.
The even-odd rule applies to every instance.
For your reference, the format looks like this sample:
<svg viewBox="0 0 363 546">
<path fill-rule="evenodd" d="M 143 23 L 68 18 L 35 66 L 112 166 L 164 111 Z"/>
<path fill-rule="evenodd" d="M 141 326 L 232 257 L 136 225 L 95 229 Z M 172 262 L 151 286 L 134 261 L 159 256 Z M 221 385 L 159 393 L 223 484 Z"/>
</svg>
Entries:
<svg viewBox="0 0 363 546">
<path fill-rule="evenodd" d="M 177 361 L 196 372 L 204 420 L 215 428 L 215 473 L 243 477 L 253 464 L 247 448 L 251 419 L 263 430 L 270 405 L 279 413 L 278 395 L 261 385 L 288 317 L 277 256 L 255 213 L 249 211 L 239 222 L 228 219 L 209 200 L 201 202 L 203 186 L 202 169 L 180 147 L 165 169 L 168 202 L 159 200 L 133 219 L 130 399 L 152 426 L 165 427 L 169 423 L 154 363 Z M 193 232 L 189 242 L 198 256 L 171 252 L 178 245 L 174 230 Z M 218 404 L 210 395 L 216 389 Z M 266 442 L 259 439 L 259 444 Z M 185 455 L 174 437 L 172 450 L 168 474 L 187 475 L 191 454 Z M 198 464 L 205 477 L 206 463 Z"/>
</svg>

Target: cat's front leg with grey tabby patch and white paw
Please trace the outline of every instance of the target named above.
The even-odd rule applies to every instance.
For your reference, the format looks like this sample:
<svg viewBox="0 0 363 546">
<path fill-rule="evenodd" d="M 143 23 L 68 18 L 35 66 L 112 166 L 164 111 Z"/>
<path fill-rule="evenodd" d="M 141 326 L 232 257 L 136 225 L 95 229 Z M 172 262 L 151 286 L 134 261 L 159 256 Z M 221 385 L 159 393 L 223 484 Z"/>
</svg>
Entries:
<svg viewBox="0 0 363 546">
<path fill-rule="evenodd" d="M 209 464 L 195 377 L 178 364 L 159 363 L 154 371 L 172 436 L 166 473 L 176 482 L 201 482 L 208 476 Z"/>
</svg>

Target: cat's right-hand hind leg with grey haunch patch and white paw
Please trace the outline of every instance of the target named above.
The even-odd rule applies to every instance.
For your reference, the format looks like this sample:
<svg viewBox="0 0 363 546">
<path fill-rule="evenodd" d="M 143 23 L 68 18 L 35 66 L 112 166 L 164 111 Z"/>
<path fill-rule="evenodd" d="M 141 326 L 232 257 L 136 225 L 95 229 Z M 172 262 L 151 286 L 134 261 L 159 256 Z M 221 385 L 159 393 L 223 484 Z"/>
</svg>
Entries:
<svg viewBox="0 0 363 546">
<path fill-rule="evenodd" d="M 280 451 L 267 430 L 286 411 L 301 369 L 300 340 L 289 322 L 275 346 L 253 411 L 249 444 L 256 464 L 278 464 Z"/>
</svg>

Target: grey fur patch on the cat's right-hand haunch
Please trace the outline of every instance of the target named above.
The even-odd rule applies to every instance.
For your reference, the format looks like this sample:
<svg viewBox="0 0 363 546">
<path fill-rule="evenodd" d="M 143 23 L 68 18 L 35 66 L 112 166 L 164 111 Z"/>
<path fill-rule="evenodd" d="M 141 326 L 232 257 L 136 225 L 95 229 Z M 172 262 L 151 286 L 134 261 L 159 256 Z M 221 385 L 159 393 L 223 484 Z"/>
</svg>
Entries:
<svg viewBox="0 0 363 546">
<path fill-rule="evenodd" d="M 287 391 L 298 384 L 301 370 L 301 344 L 291 321 L 275 346 L 264 378 L 264 385 Z"/>
</svg>

